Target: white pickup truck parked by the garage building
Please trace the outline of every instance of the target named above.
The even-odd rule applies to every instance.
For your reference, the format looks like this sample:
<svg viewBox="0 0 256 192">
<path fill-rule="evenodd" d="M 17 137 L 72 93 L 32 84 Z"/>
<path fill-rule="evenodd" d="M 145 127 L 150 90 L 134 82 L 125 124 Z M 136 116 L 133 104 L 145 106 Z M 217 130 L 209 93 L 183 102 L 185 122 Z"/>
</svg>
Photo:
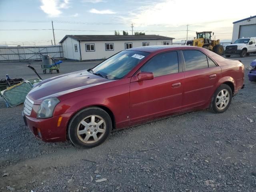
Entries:
<svg viewBox="0 0 256 192">
<path fill-rule="evenodd" d="M 233 44 L 229 44 L 225 49 L 225 56 L 240 55 L 245 57 L 250 53 L 256 53 L 256 37 L 242 38 L 236 40 Z"/>
</svg>

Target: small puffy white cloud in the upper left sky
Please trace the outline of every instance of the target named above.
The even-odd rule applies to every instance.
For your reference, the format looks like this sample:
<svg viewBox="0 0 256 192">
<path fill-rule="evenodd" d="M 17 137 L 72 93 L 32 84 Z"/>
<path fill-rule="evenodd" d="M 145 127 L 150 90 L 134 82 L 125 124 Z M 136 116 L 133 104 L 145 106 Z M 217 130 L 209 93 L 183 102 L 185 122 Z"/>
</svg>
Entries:
<svg viewBox="0 0 256 192">
<path fill-rule="evenodd" d="M 58 17 L 62 14 L 61 9 L 69 8 L 70 0 L 41 0 L 40 8 L 50 17 Z"/>
</svg>

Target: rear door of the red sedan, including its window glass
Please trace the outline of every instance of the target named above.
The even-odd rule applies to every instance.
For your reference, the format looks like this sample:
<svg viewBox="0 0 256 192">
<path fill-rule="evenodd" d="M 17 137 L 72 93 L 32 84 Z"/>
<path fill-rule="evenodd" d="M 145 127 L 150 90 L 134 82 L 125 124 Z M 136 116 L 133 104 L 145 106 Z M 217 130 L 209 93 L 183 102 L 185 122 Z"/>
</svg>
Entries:
<svg viewBox="0 0 256 192">
<path fill-rule="evenodd" d="M 199 50 L 183 50 L 184 94 L 182 109 L 205 104 L 216 89 L 221 68 Z"/>
</svg>

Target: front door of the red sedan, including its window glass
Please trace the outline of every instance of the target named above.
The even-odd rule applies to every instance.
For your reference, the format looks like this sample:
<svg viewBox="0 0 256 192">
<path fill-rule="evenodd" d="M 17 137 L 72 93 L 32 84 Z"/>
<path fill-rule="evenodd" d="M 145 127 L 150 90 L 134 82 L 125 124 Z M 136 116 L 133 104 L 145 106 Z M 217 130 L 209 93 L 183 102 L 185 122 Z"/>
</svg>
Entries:
<svg viewBox="0 0 256 192">
<path fill-rule="evenodd" d="M 140 68 L 140 72 L 152 72 L 154 79 L 133 82 L 132 78 L 131 122 L 179 112 L 182 105 L 184 75 L 181 69 L 179 72 L 178 52 L 165 52 L 154 56 Z"/>
</svg>

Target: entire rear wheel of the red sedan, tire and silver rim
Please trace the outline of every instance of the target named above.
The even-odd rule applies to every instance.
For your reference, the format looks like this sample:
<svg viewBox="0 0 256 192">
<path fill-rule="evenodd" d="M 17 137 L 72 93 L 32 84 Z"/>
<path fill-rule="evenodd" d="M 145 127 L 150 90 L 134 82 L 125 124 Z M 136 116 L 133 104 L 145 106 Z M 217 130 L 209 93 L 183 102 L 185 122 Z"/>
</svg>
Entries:
<svg viewBox="0 0 256 192">
<path fill-rule="evenodd" d="M 226 92 L 227 93 L 227 96 L 225 95 L 222 95 L 222 91 L 224 91 L 223 93 L 225 94 Z M 225 98 L 223 98 L 223 96 L 225 96 Z M 211 102 L 211 105 L 210 105 L 210 110 L 214 113 L 223 113 L 225 112 L 230 104 L 231 104 L 231 101 L 232 101 L 232 96 L 233 96 L 233 93 L 232 93 L 232 90 L 230 88 L 230 86 L 226 85 L 226 84 L 221 84 L 220 87 L 215 91 L 213 97 L 212 97 L 212 102 Z M 221 97 L 221 98 L 218 98 L 218 97 Z M 223 98 L 223 100 L 222 100 Z M 227 101 L 227 98 L 229 98 L 229 100 Z M 224 108 L 221 108 L 221 105 L 222 104 L 222 101 L 225 102 L 225 107 Z M 218 104 L 218 102 L 221 102 L 220 104 Z"/>
</svg>

